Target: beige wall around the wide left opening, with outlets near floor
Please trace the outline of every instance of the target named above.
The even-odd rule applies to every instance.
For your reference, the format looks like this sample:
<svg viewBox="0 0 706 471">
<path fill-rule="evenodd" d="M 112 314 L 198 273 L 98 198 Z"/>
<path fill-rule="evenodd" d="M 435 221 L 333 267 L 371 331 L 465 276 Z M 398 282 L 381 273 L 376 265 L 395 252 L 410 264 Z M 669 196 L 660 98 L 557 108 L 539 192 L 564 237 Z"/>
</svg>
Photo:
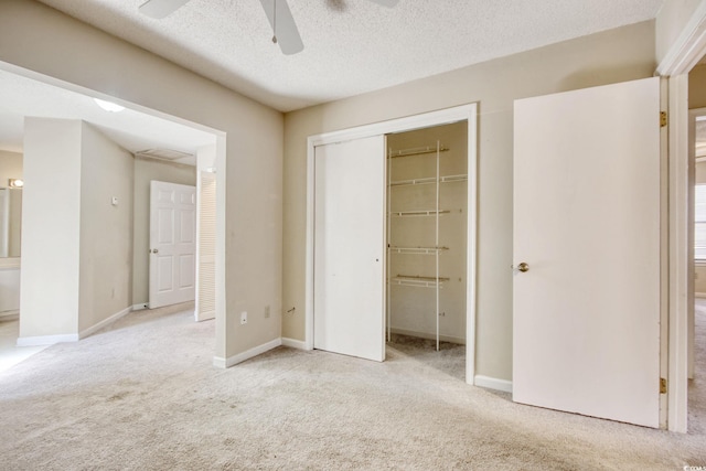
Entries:
<svg viewBox="0 0 706 471">
<path fill-rule="evenodd" d="M 31 0 L 0 2 L 0 61 L 225 132 L 217 178 L 225 193 L 220 299 L 226 315 L 216 322 L 216 355 L 279 338 L 280 113 Z M 265 306 L 271 306 L 269 319 L 259 315 Z M 246 325 L 240 311 L 252 312 Z"/>
</svg>

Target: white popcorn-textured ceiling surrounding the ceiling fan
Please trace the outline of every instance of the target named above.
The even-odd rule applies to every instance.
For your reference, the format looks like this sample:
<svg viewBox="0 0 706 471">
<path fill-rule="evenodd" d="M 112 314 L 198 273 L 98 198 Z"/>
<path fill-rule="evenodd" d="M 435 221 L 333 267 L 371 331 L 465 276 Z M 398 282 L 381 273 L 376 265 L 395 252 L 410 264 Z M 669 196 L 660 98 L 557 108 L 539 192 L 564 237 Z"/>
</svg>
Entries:
<svg viewBox="0 0 706 471">
<path fill-rule="evenodd" d="M 289 0 L 304 50 L 287 56 L 259 0 L 191 0 L 163 20 L 143 1 L 42 0 L 282 111 L 654 19 L 664 2 Z"/>
</svg>

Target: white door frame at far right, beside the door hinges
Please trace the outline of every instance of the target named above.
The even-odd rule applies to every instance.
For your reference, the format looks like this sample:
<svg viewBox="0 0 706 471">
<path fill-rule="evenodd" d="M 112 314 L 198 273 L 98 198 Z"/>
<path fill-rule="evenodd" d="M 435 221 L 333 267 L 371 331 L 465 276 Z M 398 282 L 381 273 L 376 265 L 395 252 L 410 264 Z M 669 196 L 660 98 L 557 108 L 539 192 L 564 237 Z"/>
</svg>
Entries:
<svg viewBox="0 0 706 471">
<path fill-rule="evenodd" d="M 688 72 L 706 53 L 706 1 L 682 30 L 656 74 L 668 77 L 668 388 L 667 428 L 687 431 L 689 277 Z"/>
</svg>

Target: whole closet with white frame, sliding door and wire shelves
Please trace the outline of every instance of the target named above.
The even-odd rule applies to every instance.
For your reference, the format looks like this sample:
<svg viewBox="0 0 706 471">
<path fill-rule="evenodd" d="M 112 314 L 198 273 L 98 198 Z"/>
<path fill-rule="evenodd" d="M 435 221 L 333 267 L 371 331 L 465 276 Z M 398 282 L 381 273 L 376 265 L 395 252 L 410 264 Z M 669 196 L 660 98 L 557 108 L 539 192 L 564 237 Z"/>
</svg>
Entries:
<svg viewBox="0 0 706 471">
<path fill-rule="evenodd" d="M 477 113 L 308 138 L 307 350 L 475 383 Z"/>
</svg>

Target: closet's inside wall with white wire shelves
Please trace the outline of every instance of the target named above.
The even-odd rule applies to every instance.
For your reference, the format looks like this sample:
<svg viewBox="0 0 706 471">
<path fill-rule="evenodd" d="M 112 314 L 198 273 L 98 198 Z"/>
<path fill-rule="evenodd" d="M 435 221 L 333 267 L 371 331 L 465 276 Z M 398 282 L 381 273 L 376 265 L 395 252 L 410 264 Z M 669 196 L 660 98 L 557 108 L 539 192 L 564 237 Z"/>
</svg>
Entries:
<svg viewBox="0 0 706 471">
<path fill-rule="evenodd" d="M 467 126 L 387 137 L 388 333 L 466 343 Z"/>
</svg>

